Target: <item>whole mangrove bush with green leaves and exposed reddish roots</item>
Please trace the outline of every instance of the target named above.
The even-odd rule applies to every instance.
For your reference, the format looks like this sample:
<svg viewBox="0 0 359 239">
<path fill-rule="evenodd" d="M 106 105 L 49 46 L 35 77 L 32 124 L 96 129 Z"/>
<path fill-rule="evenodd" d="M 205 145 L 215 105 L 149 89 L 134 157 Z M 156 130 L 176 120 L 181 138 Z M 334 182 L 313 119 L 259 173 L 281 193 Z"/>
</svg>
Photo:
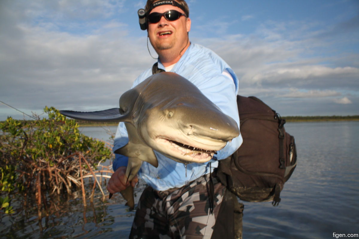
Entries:
<svg viewBox="0 0 359 239">
<path fill-rule="evenodd" d="M 54 107 L 46 106 L 44 112 L 48 118 L 20 121 L 9 117 L 0 123 L 0 196 L 36 188 L 38 175 L 42 190 L 64 193 L 66 188 L 70 192 L 76 185 L 67 176 L 79 177 L 80 154 L 92 167 L 112 157 L 104 142 L 80 134 L 75 120 Z M 9 197 L 0 199 L 1 209 L 11 213 Z"/>
</svg>

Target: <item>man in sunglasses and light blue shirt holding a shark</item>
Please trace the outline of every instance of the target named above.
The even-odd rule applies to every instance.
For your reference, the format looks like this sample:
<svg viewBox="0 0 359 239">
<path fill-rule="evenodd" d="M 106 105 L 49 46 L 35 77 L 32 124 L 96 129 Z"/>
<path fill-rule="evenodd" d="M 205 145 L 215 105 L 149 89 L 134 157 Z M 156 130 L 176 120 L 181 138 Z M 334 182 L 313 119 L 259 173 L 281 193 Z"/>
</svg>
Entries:
<svg viewBox="0 0 359 239">
<path fill-rule="evenodd" d="M 223 113 L 236 120 L 239 128 L 238 78 L 214 52 L 190 42 L 191 19 L 186 2 L 148 0 L 145 11 L 148 38 L 159 56 L 158 65 L 144 71 L 134 86 L 158 71 L 175 72 L 194 83 Z M 120 123 L 113 150 L 127 142 L 126 128 Z M 148 187 L 137 205 L 130 238 L 233 238 L 233 207 L 237 200 L 212 173 L 218 160 L 233 154 L 241 144 L 239 135 L 218 151 L 215 159 L 186 167 L 155 152 L 159 166 L 144 162 L 138 173 Z M 116 154 L 115 172 L 107 186 L 110 193 L 124 190 L 130 183 L 136 185 L 137 177 L 126 184 L 126 166 L 127 158 Z M 216 222 L 224 212 L 226 220 Z"/>
</svg>

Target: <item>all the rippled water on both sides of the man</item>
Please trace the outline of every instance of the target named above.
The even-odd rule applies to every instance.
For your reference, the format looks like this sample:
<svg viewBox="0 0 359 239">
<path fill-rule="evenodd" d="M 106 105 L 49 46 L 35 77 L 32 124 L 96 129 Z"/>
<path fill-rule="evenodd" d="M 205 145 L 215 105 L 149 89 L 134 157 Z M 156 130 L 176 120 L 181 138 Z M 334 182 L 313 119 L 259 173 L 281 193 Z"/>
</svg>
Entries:
<svg viewBox="0 0 359 239">
<path fill-rule="evenodd" d="M 298 165 L 284 185 L 281 202 L 244 202 L 243 238 L 335 238 L 359 233 L 359 122 L 286 123 L 297 144 Z M 116 126 L 109 127 L 115 133 Z M 108 140 L 101 127 L 84 127 L 88 136 Z M 138 201 L 145 187 L 135 188 Z M 100 195 L 97 193 L 97 196 Z M 95 200 L 84 211 L 81 197 L 42 220 L 36 213 L 0 221 L 0 238 L 128 238 L 134 211 L 119 194 Z M 19 223 L 20 221 L 20 223 Z"/>
</svg>

